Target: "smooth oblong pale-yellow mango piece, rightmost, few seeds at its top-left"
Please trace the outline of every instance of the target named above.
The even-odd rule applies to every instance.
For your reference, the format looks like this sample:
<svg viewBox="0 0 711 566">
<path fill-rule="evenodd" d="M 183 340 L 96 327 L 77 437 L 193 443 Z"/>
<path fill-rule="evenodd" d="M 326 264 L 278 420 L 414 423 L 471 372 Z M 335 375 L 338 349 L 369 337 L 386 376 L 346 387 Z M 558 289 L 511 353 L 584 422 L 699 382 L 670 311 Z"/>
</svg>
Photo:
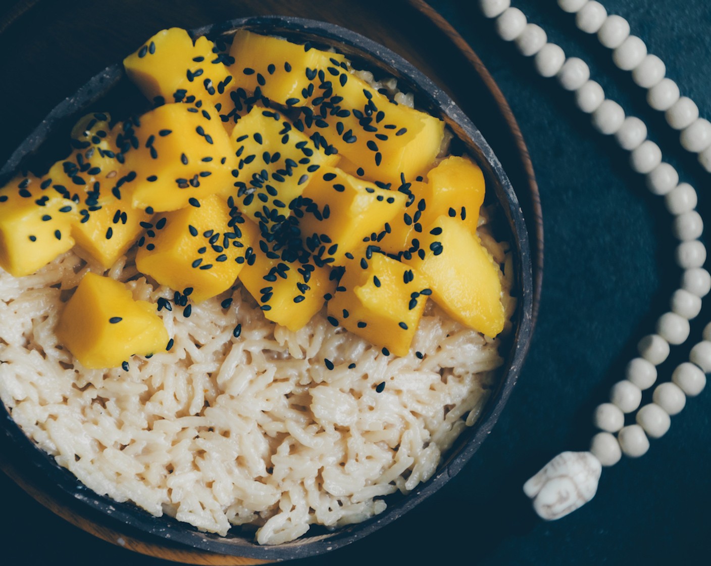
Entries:
<svg viewBox="0 0 711 566">
<path fill-rule="evenodd" d="M 419 236 L 419 250 L 402 261 L 429 280 L 432 299 L 451 318 L 491 337 L 503 330 L 498 266 L 459 219 L 439 216 Z"/>
</svg>

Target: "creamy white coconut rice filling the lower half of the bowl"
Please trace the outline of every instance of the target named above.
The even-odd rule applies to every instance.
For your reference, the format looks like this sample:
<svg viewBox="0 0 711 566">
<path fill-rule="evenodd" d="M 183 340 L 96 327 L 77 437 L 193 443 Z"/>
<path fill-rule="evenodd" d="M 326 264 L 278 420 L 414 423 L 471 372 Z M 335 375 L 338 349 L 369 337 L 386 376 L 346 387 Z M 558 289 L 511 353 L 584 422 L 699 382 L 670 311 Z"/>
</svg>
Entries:
<svg viewBox="0 0 711 566">
<path fill-rule="evenodd" d="M 508 246 L 487 226 L 479 235 L 506 273 L 508 320 Z M 333 327 L 325 309 L 298 332 L 275 325 L 237 283 L 190 318 L 161 310 L 169 351 L 86 370 L 54 328 L 87 271 L 128 282 L 136 300 L 173 292 L 138 273 L 132 251 L 108 271 L 79 253 L 23 278 L 0 270 L 0 398 L 96 493 L 220 535 L 255 525 L 257 542 L 274 545 L 381 513 L 474 424 L 502 363 L 499 340 L 432 301 L 410 354 L 395 357 Z"/>
</svg>

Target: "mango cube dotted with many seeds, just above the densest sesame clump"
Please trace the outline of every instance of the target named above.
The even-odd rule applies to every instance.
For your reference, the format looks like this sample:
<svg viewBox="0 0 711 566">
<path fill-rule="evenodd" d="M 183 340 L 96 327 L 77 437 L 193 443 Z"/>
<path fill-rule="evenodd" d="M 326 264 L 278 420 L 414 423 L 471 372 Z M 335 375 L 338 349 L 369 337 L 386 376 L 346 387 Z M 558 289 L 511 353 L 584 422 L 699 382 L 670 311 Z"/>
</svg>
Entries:
<svg viewBox="0 0 711 566">
<path fill-rule="evenodd" d="M 315 147 L 286 117 L 261 106 L 237 122 L 231 138 L 240 158 L 232 172 L 237 180 L 220 194 L 235 196 L 240 210 L 257 222 L 283 221 L 319 168 L 338 162 L 338 155 Z"/>
</svg>

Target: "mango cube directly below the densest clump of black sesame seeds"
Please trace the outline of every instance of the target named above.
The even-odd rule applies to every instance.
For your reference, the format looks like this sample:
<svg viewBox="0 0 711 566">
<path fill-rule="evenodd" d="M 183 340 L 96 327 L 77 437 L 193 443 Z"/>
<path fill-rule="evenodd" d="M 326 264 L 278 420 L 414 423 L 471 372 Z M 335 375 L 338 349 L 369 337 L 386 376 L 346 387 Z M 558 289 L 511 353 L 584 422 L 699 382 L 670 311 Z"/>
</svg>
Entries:
<svg viewBox="0 0 711 566">
<path fill-rule="evenodd" d="M 250 260 L 242 269 L 240 281 L 261 305 L 266 318 L 296 332 L 321 310 L 326 295 L 336 290 L 331 273 L 323 264 L 292 263 L 257 249 L 253 263 Z"/>
</svg>

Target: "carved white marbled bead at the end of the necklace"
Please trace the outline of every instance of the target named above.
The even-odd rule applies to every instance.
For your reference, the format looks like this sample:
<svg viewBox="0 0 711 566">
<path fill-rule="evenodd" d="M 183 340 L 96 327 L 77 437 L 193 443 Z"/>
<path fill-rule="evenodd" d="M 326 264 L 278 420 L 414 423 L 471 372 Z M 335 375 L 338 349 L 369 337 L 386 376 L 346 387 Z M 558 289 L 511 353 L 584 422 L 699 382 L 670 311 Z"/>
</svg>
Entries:
<svg viewBox="0 0 711 566">
<path fill-rule="evenodd" d="M 563 452 L 523 485 L 533 508 L 545 520 L 565 517 L 597 492 L 602 464 L 590 452 Z"/>
</svg>

